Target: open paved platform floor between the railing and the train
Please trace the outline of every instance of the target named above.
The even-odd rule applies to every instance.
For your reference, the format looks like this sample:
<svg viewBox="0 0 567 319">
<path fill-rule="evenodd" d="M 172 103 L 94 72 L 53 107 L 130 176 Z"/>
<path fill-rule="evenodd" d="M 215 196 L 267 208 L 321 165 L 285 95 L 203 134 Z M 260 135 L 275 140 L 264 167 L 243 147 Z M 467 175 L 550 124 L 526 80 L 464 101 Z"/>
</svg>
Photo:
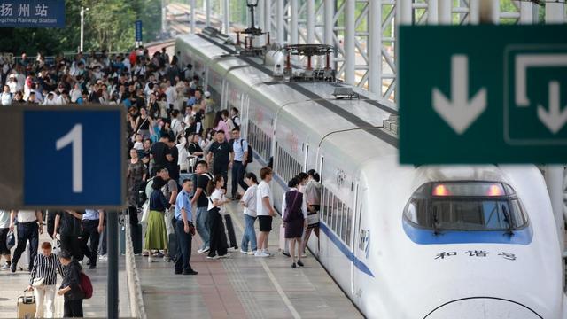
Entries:
<svg viewBox="0 0 567 319">
<path fill-rule="evenodd" d="M 237 202 L 228 208 L 240 244 L 242 208 Z M 268 249 L 275 256 L 269 258 L 231 249 L 229 259 L 207 260 L 197 253 L 200 238 L 193 237 L 190 263 L 197 276 L 174 275 L 173 263 L 136 257 L 148 317 L 361 318 L 315 257 L 304 258 L 304 268 L 291 268 L 291 260 L 277 250 L 281 222 L 274 221 Z"/>
</svg>

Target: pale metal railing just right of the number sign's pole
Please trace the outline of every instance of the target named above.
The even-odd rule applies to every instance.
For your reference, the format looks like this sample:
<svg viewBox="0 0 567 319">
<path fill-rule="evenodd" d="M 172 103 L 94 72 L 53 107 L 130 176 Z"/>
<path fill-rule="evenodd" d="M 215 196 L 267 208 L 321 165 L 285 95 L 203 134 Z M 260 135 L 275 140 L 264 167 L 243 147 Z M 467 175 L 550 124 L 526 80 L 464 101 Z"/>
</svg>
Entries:
<svg viewBox="0 0 567 319">
<path fill-rule="evenodd" d="M 134 257 L 134 247 L 130 236 L 130 219 L 128 214 L 124 214 L 124 238 L 126 240 L 126 276 L 128 282 L 128 295 L 130 296 L 130 314 L 133 317 L 147 319 L 144 307 L 144 296 L 142 295 L 142 284 L 136 268 Z"/>
</svg>

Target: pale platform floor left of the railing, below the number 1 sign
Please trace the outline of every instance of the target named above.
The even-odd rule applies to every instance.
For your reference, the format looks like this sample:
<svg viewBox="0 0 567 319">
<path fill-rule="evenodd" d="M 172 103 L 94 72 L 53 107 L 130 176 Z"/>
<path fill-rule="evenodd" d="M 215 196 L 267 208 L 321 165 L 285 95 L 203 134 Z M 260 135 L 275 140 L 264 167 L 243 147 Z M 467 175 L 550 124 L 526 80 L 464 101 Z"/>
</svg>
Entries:
<svg viewBox="0 0 567 319">
<path fill-rule="evenodd" d="M 40 237 L 40 243 L 49 241 L 50 238 L 43 234 Z M 15 248 L 12 248 L 12 255 Z M 87 259 L 85 259 L 87 261 Z M 119 273 L 119 295 L 120 295 L 120 317 L 130 316 L 130 307 L 128 299 L 128 286 L 126 282 L 126 270 L 124 267 L 124 257 L 120 256 L 120 273 Z M 2 260 L 4 264 L 4 259 Z M 97 261 L 97 269 L 84 269 L 85 273 L 90 277 L 93 284 L 93 296 L 89 300 L 83 300 L 82 307 L 85 317 L 106 317 L 106 261 Z M 0 318 L 15 318 L 16 304 L 18 297 L 22 295 L 23 290 L 27 288 L 29 283 L 29 273 L 27 271 L 18 270 L 15 273 L 9 270 L 0 271 Z M 57 283 L 61 284 L 61 276 L 58 276 Z M 56 295 L 55 297 L 55 317 L 63 317 L 63 297 Z"/>
</svg>

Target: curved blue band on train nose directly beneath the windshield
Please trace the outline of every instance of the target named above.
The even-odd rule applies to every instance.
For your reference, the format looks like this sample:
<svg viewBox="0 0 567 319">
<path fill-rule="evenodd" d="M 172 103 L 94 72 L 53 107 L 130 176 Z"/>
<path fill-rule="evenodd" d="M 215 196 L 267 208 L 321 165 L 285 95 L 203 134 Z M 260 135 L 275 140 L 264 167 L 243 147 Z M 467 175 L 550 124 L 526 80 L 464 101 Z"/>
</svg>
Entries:
<svg viewBox="0 0 567 319">
<path fill-rule="evenodd" d="M 532 243 L 533 231 L 528 225 L 522 230 L 514 230 L 514 235 L 509 236 L 502 230 L 440 230 L 439 235 L 435 235 L 433 230 L 416 228 L 405 218 L 403 228 L 409 239 L 420 245 L 443 245 L 443 244 L 510 244 L 510 245 L 529 245 Z"/>
</svg>

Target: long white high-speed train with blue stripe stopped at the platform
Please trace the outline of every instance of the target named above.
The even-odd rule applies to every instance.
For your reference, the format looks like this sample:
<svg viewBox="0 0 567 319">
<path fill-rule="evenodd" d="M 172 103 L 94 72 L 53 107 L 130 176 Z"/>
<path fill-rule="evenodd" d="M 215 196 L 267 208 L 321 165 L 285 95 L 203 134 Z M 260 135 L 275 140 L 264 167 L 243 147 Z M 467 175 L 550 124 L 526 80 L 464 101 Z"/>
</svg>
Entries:
<svg viewBox="0 0 567 319">
<path fill-rule="evenodd" d="M 531 166 L 400 166 L 397 110 L 341 83 L 284 82 L 224 39 L 182 35 L 175 51 L 219 109 L 237 107 L 255 158 L 287 181 L 322 177 L 310 250 L 369 318 L 566 318 L 562 256 Z M 436 141 L 431 141 L 436 143 Z M 319 245 L 318 245 L 319 244 Z"/>
</svg>

